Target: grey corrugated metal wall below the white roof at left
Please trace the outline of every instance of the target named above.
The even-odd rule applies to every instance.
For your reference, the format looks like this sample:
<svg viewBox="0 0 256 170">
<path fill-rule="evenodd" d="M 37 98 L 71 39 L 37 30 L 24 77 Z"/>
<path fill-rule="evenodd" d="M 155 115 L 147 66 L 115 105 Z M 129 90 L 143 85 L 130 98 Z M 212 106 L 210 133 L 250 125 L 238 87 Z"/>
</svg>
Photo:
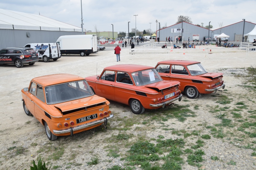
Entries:
<svg viewBox="0 0 256 170">
<path fill-rule="evenodd" d="M 30 37 L 27 37 L 30 33 Z M 81 35 L 82 32 L 8 30 L 0 29 L 0 49 L 6 47 L 24 47 L 28 43 L 56 42 L 62 35 Z"/>
</svg>

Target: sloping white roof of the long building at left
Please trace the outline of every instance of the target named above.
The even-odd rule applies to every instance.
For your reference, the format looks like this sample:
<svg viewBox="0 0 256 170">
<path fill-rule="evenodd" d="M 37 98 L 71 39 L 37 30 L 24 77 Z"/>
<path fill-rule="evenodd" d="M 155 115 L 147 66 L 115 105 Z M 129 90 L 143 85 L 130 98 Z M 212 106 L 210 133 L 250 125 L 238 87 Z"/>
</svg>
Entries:
<svg viewBox="0 0 256 170">
<path fill-rule="evenodd" d="M 5 9 L 0 9 L 0 29 L 82 32 L 80 27 L 44 17 L 43 15 Z"/>
</svg>

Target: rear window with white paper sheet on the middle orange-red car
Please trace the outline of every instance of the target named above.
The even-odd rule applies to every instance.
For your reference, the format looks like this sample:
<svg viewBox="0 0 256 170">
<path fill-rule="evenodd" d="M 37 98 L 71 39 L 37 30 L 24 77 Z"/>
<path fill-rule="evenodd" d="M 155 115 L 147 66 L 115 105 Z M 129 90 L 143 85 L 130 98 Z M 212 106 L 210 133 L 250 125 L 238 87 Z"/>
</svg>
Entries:
<svg viewBox="0 0 256 170">
<path fill-rule="evenodd" d="M 132 73 L 132 78 L 135 82 L 135 85 L 138 86 L 148 85 L 163 80 L 155 69 L 134 72 Z"/>
</svg>

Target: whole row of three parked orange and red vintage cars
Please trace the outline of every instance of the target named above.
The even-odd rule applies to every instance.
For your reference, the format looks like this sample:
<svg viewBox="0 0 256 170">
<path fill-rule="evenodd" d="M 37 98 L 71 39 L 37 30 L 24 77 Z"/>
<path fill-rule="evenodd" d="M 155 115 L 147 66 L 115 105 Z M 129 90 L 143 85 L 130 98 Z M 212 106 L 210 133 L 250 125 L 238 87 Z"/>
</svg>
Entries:
<svg viewBox="0 0 256 170">
<path fill-rule="evenodd" d="M 100 75 L 82 78 L 53 74 L 33 78 L 21 90 L 23 108 L 44 125 L 49 140 L 73 135 L 113 118 L 113 100 L 129 105 L 134 114 L 157 109 L 199 93 L 224 89 L 222 73 L 207 73 L 200 62 L 168 60 L 156 67 L 120 64 L 106 67 Z M 106 100 L 108 99 L 108 100 Z"/>
</svg>

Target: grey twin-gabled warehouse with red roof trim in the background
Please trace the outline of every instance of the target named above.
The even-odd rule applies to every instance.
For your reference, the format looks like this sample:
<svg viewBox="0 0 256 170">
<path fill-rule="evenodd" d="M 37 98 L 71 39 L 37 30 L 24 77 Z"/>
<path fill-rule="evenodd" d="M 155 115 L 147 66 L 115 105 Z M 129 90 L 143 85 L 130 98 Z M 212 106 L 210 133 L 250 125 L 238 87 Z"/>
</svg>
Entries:
<svg viewBox="0 0 256 170">
<path fill-rule="evenodd" d="M 156 31 L 156 36 L 159 37 L 160 35 L 160 41 L 165 41 L 166 37 L 172 37 L 173 41 L 176 41 L 176 37 L 181 37 L 181 31 L 180 33 L 177 33 L 179 31 L 176 31 L 176 29 L 179 30 L 183 29 L 182 33 L 182 41 L 192 41 L 192 37 L 194 34 L 199 34 L 199 42 L 204 41 L 204 36 L 209 36 L 212 38 L 215 34 L 221 34 L 225 33 L 226 35 L 229 35 L 229 41 L 242 41 L 243 37 L 243 28 L 244 28 L 244 34 L 247 34 L 253 30 L 256 24 L 247 22 L 247 21 L 240 21 L 235 24 L 231 24 L 229 26 L 224 26 L 222 28 L 218 29 L 207 29 L 201 26 L 196 26 L 194 24 L 190 24 L 187 22 L 181 22 L 172 26 L 168 26 L 166 28 L 160 29 Z M 176 33 L 175 33 L 176 31 Z M 159 33 L 160 32 L 160 33 Z M 247 41 L 244 39 L 244 41 Z"/>
</svg>

